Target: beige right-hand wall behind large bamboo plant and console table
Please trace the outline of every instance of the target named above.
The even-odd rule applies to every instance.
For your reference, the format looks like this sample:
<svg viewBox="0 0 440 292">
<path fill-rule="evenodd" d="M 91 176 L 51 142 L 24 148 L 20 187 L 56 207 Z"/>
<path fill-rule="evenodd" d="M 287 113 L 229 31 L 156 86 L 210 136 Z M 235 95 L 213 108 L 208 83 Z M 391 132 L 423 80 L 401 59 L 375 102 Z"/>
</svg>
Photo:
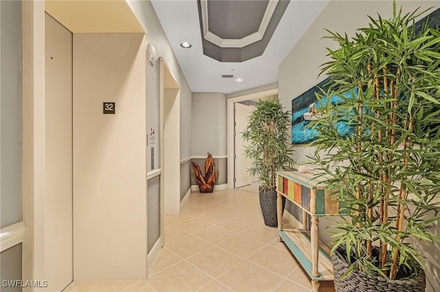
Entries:
<svg viewBox="0 0 440 292">
<path fill-rule="evenodd" d="M 397 1 L 397 7 L 403 4 L 404 12 L 411 12 L 415 8 L 428 8 L 440 6 L 440 1 Z M 326 47 L 335 48 L 333 42 L 322 39 L 327 36 L 326 29 L 333 32 L 353 36 L 355 29 L 365 27 L 369 23 L 370 16 L 377 16 L 379 12 L 383 18 L 393 14 L 392 1 L 330 1 L 327 7 L 318 16 L 316 21 L 309 27 L 300 42 L 292 49 L 278 69 L 278 90 L 279 98 L 287 110 L 292 110 L 292 99 L 318 82 L 325 79 L 325 76 L 318 77 L 320 65 L 327 62 Z M 305 145 L 296 145 L 294 157 L 297 162 L 304 162 L 305 157 L 314 149 Z M 289 208 L 289 206 L 287 207 Z M 294 210 L 292 210 L 294 212 Z M 320 238 L 328 243 L 331 241 L 329 230 L 325 230 L 331 222 L 320 219 Z M 438 226 L 433 226 L 438 235 Z M 437 228 L 437 230 L 435 230 Z M 440 264 L 439 258 L 430 255 L 440 254 L 440 244 L 421 245 L 423 254 L 429 256 L 426 260 L 428 268 L 428 283 L 426 291 L 436 291 L 440 287 Z"/>
</svg>

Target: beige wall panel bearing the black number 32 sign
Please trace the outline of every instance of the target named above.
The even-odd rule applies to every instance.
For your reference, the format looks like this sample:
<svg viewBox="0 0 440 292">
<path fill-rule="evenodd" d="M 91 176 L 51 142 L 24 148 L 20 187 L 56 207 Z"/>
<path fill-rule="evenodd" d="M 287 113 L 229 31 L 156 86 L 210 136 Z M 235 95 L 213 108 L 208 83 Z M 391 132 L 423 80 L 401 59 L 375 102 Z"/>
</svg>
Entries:
<svg viewBox="0 0 440 292">
<path fill-rule="evenodd" d="M 74 34 L 74 280 L 146 277 L 145 50 L 143 34 Z"/>
</svg>

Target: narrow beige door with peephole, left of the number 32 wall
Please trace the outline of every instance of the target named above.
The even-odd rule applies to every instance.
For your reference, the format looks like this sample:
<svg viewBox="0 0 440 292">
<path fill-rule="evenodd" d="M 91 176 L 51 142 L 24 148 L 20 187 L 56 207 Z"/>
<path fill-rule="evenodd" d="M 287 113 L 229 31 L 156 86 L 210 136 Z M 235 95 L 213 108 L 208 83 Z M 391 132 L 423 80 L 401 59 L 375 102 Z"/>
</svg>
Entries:
<svg viewBox="0 0 440 292">
<path fill-rule="evenodd" d="M 73 280 L 72 32 L 45 14 L 45 280 Z"/>
</svg>

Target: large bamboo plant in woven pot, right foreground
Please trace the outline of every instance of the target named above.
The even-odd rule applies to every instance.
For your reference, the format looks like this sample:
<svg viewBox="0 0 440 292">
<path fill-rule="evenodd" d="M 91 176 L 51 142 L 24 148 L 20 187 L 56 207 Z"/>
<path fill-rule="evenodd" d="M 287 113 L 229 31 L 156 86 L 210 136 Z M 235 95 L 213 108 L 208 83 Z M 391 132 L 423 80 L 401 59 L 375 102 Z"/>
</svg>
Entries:
<svg viewBox="0 0 440 292">
<path fill-rule="evenodd" d="M 336 291 L 425 289 L 412 242 L 440 240 L 429 230 L 439 220 L 440 32 L 415 25 L 424 13 L 393 3 L 391 19 L 370 17 L 351 39 L 329 32 L 339 48 L 322 65 L 330 81 L 309 159 L 347 214 L 333 234 Z"/>
</svg>

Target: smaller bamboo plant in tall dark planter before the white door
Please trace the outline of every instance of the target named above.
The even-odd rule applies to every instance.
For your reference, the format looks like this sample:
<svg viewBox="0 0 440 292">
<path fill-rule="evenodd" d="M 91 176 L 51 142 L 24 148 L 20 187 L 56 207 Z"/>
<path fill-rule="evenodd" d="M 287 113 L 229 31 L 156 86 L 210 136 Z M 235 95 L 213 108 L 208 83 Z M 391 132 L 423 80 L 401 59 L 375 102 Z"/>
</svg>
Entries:
<svg viewBox="0 0 440 292">
<path fill-rule="evenodd" d="M 259 197 L 265 225 L 276 227 L 276 171 L 292 167 L 292 145 L 287 132 L 290 114 L 275 97 L 260 100 L 249 117 L 243 138 L 249 142 L 245 156 L 252 159 L 249 172 L 260 180 Z"/>
</svg>

